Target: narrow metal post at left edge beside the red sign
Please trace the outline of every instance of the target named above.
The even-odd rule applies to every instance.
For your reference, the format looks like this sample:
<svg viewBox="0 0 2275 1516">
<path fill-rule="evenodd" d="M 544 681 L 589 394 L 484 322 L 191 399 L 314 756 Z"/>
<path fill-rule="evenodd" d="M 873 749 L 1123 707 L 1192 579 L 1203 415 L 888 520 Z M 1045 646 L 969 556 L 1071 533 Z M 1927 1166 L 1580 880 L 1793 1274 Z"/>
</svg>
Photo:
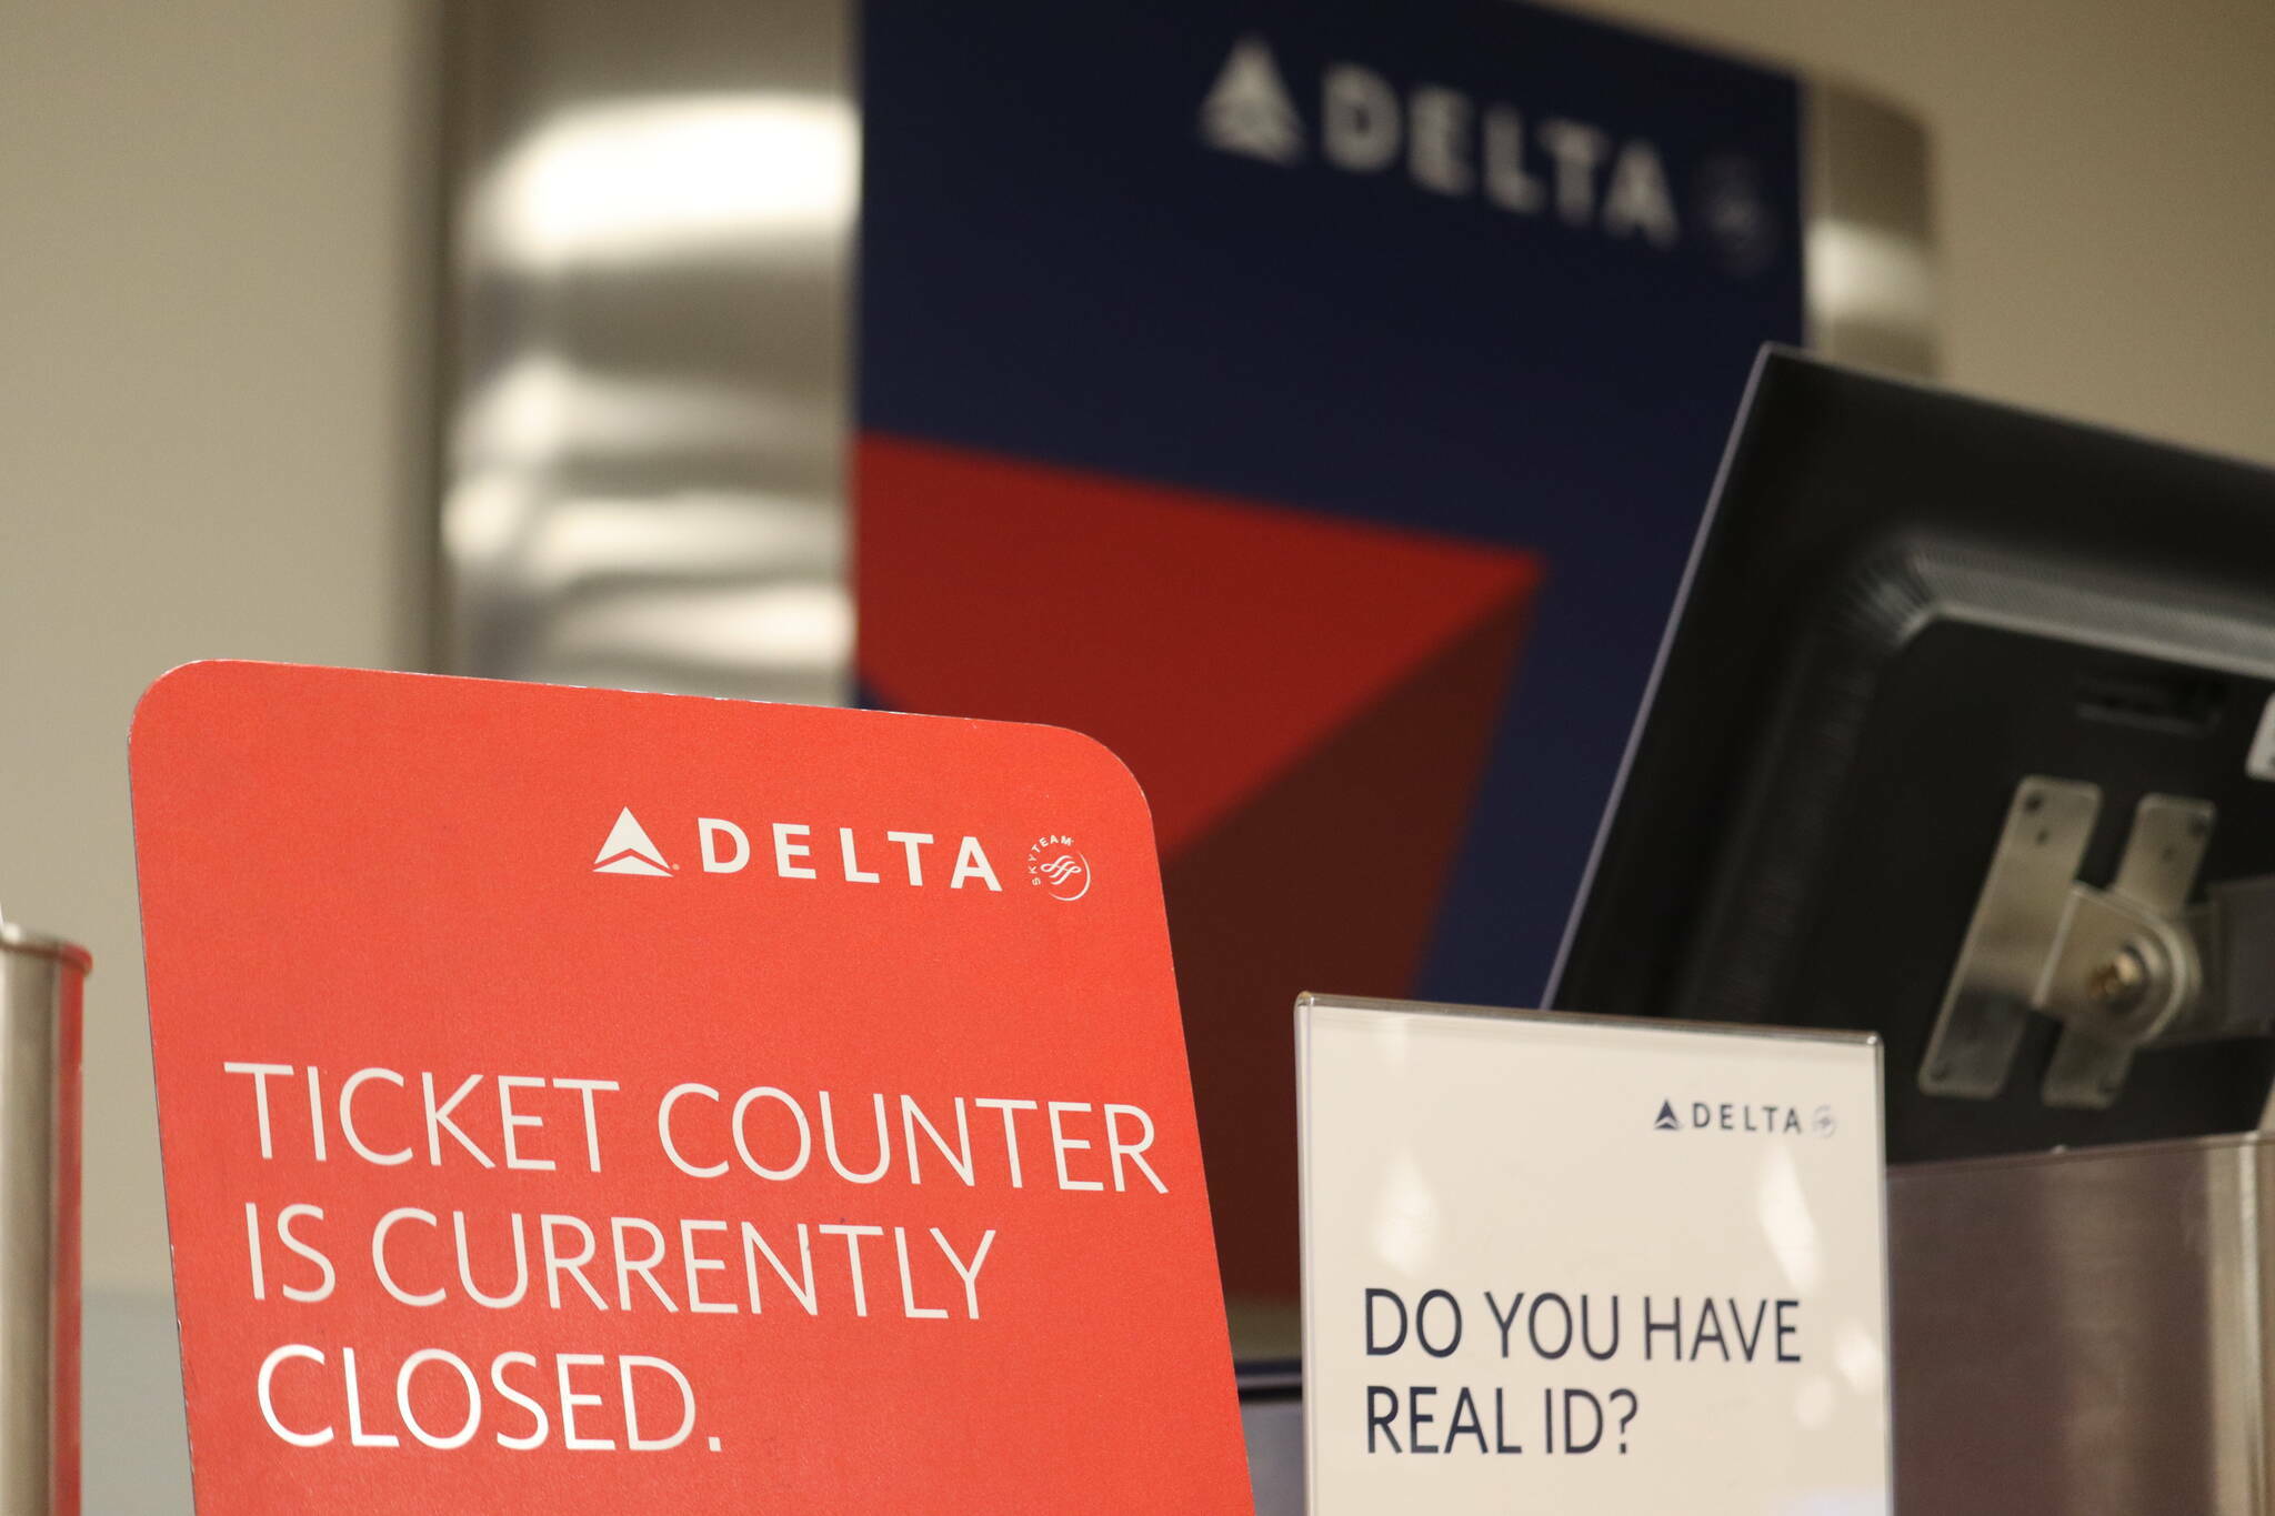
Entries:
<svg viewBox="0 0 2275 1516">
<path fill-rule="evenodd" d="M 0 925 L 0 1511 L 77 1511 L 80 980 Z"/>
</svg>

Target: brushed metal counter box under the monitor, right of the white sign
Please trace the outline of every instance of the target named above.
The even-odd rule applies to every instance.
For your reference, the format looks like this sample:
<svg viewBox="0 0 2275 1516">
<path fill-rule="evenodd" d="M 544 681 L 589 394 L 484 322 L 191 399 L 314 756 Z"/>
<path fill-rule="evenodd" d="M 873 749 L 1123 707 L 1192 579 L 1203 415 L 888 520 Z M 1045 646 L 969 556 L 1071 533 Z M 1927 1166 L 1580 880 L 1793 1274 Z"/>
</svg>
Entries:
<svg viewBox="0 0 2275 1516">
<path fill-rule="evenodd" d="M 1888 1173 L 1897 1509 L 2268 1516 L 2257 1134 Z"/>
</svg>

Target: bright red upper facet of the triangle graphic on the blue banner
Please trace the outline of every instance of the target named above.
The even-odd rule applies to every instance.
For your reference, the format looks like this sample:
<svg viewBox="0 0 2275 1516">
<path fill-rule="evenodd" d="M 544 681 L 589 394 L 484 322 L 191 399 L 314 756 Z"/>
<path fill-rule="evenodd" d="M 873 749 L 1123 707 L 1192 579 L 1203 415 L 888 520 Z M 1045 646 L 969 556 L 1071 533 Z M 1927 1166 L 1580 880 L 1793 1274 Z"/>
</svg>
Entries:
<svg viewBox="0 0 2275 1516">
<path fill-rule="evenodd" d="M 1163 855 L 1540 582 L 1529 552 L 878 434 L 858 507 L 869 686 L 1101 739 Z"/>
</svg>

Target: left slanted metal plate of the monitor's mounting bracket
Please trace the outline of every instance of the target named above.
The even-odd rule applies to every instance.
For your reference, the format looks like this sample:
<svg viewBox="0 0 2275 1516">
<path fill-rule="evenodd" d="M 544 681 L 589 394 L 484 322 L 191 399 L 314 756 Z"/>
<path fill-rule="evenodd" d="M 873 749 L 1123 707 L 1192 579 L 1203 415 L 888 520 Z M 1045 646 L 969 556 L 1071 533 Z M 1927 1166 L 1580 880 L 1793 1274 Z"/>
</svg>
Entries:
<svg viewBox="0 0 2275 1516">
<path fill-rule="evenodd" d="M 2093 784 L 2032 775 L 2016 786 L 1920 1061 L 1927 1093 L 1988 1100 L 2007 1084 L 2100 809 Z"/>
</svg>

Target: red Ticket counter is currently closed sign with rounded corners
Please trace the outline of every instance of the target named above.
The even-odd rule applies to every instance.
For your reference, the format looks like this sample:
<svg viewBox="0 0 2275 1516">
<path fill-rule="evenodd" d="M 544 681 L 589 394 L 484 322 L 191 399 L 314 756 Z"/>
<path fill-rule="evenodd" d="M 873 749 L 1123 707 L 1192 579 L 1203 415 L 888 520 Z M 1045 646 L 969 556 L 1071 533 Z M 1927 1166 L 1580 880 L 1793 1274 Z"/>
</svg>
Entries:
<svg viewBox="0 0 2275 1516">
<path fill-rule="evenodd" d="M 200 1511 L 1244 1511 L 1153 832 L 1053 727 L 193 664 Z"/>
</svg>

